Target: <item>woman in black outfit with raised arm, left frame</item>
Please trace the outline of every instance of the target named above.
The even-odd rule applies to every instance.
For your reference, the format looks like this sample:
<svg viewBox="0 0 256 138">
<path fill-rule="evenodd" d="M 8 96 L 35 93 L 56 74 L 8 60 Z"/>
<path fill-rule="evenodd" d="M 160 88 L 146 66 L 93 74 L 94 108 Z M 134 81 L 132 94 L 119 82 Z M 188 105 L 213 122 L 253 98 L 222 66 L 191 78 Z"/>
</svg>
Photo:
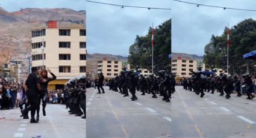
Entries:
<svg viewBox="0 0 256 138">
<path fill-rule="evenodd" d="M 48 72 L 52 75 L 52 77 L 48 77 Z M 52 80 L 55 80 L 57 77 L 51 72 L 51 70 L 45 70 L 42 69 L 39 71 L 39 79 L 40 79 L 40 85 L 42 88 L 42 91 L 39 94 L 39 101 L 43 101 L 43 116 L 46 116 L 45 112 L 45 107 L 48 99 L 48 83 L 51 82 Z M 39 121 L 39 110 L 40 110 L 40 105 L 37 108 L 37 117 L 36 120 Z"/>
</svg>

